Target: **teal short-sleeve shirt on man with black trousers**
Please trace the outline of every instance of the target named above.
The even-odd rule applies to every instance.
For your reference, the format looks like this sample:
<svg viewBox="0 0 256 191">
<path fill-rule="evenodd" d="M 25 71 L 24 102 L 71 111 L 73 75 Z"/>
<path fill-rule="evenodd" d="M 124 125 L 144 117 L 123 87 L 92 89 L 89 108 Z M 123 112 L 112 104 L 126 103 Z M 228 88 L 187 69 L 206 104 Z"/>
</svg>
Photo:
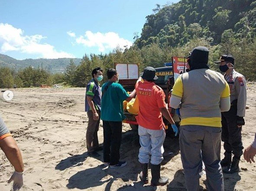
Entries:
<svg viewBox="0 0 256 191">
<path fill-rule="evenodd" d="M 108 85 L 107 91 L 105 87 Z M 121 122 L 125 119 L 123 114 L 123 101 L 129 97 L 122 85 L 110 82 L 102 86 L 104 95 L 101 100 L 100 119 L 104 121 Z"/>
</svg>

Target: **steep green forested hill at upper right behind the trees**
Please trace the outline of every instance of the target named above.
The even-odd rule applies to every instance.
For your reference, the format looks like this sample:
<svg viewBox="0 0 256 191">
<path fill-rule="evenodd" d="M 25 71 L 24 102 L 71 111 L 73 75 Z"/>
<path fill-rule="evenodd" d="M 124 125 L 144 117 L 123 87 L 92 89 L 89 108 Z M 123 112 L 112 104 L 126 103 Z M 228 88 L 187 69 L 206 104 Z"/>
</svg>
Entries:
<svg viewBox="0 0 256 191">
<path fill-rule="evenodd" d="M 157 4 L 146 16 L 141 36 L 135 46 L 152 43 L 175 47 L 192 38 L 205 38 L 212 45 L 225 40 L 225 35 L 253 39 L 256 36 L 255 0 L 181 0 L 172 5 Z"/>
</svg>

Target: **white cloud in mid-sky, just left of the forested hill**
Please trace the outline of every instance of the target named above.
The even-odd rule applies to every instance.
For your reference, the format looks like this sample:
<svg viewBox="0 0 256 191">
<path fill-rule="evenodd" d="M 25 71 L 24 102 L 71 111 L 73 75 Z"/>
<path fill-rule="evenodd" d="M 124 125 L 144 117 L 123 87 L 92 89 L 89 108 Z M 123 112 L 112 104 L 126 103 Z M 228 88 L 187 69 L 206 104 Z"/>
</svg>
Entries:
<svg viewBox="0 0 256 191">
<path fill-rule="evenodd" d="M 107 33 L 93 33 L 91 31 L 86 31 L 84 36 L 76 38 L 78 44 L 83 44 L 86 47 L 98 47 L 100 52 L 104 52 L 106 49 L 114 49 L 116 47 L 129 48 L 132 46 L 132 42 L 120 38 L 117 33 L 107 32 Z"/>
</svg>

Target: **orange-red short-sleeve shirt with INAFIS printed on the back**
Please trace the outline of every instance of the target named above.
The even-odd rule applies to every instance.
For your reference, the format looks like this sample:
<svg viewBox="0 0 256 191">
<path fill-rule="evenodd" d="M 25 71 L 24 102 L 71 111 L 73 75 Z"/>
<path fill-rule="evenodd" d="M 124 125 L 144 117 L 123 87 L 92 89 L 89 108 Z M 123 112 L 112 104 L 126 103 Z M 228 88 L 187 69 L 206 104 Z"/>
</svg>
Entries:
<svg viewBox="0 0 256 191">
<path fill-rule="evenodd" d="M 139 99 L 139 114 L 136 116 L 138 124 L 152 130 L 163 129 L 164 123 L 159 108 L 166 107 L 166 103 L 162 88 L 153 82 L 139 81 L 135 89 Z"/>
</svg>

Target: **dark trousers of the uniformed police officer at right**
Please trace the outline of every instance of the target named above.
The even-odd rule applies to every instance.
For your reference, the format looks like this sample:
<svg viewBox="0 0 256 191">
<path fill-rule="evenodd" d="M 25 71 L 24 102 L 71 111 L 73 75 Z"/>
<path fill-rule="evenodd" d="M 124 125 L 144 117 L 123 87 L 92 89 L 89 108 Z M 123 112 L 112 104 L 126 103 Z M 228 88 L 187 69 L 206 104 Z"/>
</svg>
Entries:
<svg viewBox="0 0 256 191">
<path fill-rule="evenodd" d="M 222 133 L 221 140 L 224 142 L 224 154 L 233 153 L 240 159 L 243 154 L 242 128 L 237 127 L 237 106 L 231 106 L 230 110 L 221 113 Z"/>
</svg>

